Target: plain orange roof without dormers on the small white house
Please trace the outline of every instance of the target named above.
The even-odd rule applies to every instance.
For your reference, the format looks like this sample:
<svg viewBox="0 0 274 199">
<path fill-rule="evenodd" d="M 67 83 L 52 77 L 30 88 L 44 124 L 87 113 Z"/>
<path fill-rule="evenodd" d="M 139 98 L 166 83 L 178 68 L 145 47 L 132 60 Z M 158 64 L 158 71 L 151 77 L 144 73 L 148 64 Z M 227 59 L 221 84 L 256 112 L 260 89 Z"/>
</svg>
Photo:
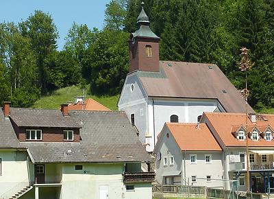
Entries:
<svg viewBox="0 0 274 199">
<path fill-rule="evenodd" d="M 187 151 L 221 151 L 206 124 L 166 123 L 179 148 Z"/>
</svg>

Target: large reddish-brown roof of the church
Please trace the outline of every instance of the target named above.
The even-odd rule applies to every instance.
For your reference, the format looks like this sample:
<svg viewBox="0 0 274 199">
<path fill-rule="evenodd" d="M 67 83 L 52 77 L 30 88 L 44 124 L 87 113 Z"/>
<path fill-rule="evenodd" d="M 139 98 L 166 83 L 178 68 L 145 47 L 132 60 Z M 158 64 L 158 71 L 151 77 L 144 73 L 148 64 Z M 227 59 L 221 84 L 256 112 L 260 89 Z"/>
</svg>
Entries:
<svg viewBox="0 0 274 199">
<path fill-rule="evenodd" d="M 149 97 L 216 99 L 229 113 L 245 113 L 245 100 L 216 65 L 160 61 L 158 76 L 144 73 L 136 71 Z"/>
</svg>

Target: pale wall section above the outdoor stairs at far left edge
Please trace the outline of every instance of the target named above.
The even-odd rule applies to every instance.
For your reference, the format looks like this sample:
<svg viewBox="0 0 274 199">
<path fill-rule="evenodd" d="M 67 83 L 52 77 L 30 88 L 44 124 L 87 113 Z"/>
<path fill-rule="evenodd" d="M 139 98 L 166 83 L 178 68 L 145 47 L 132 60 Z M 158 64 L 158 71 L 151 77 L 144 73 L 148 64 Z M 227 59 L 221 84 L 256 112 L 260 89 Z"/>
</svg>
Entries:
<svg viewBox="0 0 274 199">
<path fill-rule="evenodd" d="M 0 150 L 1 175 L 0 196 L 18 185 L 28 182 L 27 153 L 21 151 Z"/>
</svg>

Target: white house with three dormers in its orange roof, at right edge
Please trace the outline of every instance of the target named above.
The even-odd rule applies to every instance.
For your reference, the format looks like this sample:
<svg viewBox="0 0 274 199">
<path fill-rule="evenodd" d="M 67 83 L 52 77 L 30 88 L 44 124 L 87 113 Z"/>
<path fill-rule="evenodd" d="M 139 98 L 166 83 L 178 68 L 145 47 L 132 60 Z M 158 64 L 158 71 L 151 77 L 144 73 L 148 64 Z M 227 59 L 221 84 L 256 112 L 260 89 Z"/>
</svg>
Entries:
<svg viewBox="0 0 274 199">
<path fill-rule="evenodd" d="M 268 187 L 274 187 L 274 115 L 204 113 L 201 122 L 208 125 L 223 149 L 224 179 L 238 180 L 242 191 L 247 190 L 247 180 L 253 192 L 267 192 Z M 225 183 L 225 189 L 231 188 L 232 183 Z"/>
</svg>

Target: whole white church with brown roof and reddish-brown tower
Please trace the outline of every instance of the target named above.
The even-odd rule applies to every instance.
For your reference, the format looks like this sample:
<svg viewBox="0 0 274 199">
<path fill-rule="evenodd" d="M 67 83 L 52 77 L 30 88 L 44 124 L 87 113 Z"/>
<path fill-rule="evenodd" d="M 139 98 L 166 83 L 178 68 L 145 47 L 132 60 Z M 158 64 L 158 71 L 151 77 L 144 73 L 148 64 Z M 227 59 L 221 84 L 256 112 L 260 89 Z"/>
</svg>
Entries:
<svg viewBox="0 0 274 199">
<path fill-rule="evenodd" d="M 129 73 L 118 107 L 147 152 L 165 122 L 197 123 L 204 112 L 245 113 L 245 100 L 217 65 L 160 60 L 160 37 L 143 5 L 138 30 L 129 37 Z M 254 113 L 248 104 L 247 112 Z"/>
</svg>

